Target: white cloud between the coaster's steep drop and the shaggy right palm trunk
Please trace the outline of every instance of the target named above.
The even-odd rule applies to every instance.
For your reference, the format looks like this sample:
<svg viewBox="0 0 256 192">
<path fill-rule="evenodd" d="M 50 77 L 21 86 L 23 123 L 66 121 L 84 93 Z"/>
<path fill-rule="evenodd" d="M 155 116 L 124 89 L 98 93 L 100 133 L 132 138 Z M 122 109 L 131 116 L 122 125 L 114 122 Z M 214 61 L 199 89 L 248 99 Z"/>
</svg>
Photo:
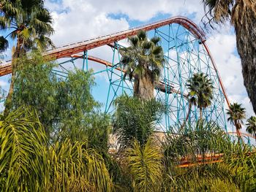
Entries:
<svg viewBox="0 0 256 192">
<path fill-rule="evenodd" d="M 252 104 L 244 87 L 244 79 L 241 73 L 241 60 L 236 53 L 236 36 L 232 32 L 223 29 L 208 38 L 208 46 L 216 61 L 219 74 L 225 85 L 227 96 L 232 102 L 243 104 L 246 108 L 246 116 L 255 115 Z"/>
</svg>

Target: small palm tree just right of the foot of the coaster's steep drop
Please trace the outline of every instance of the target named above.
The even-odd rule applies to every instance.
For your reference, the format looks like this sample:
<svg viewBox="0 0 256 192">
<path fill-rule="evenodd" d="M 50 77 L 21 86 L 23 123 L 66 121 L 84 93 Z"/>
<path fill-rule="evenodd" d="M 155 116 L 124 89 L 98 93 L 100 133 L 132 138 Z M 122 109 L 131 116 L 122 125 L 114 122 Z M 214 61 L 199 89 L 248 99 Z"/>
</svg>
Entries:
<svg viewBox="0 0 256 192">
<path fill-rule="evenodd" d="M 243 123 L 243 119 L 246 118 L 245 108 L 241 107 L 241 104 L 234 102 L 233 104 L 230 104 L 230 109 L 227 110 L 227 115 L 230 116 L 227 120 L 236 126 L 238 139 L 241 139 L 240 129 L 242 128 L 241 124 Z"/>
</svg>

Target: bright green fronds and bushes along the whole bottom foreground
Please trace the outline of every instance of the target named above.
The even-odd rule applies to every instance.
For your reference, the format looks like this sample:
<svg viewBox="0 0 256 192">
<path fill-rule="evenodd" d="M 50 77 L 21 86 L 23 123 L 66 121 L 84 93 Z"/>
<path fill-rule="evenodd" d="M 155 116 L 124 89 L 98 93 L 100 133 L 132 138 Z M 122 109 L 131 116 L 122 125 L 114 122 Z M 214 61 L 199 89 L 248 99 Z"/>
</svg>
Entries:
<svg viewBox="0 0 256 192">
<path fill-rule="evenodd" d="M 118 165 L 108 153 L 91 149 L 89 142 L 49 143 L 36 111 L 23 107 L 0 121 L 0 152 L 0 191 L 256 189 L 256 154 L 203 121 L 178 135 L 168 133 L 162 147 L 154 138 L 143 145 L 133 140 Z M 206 162 L 214 154 L 222 154 L 222 161 L 197 164 L 198 157 Z M 184 159 L 190 166 L 181 168 Z"/>
</svg>

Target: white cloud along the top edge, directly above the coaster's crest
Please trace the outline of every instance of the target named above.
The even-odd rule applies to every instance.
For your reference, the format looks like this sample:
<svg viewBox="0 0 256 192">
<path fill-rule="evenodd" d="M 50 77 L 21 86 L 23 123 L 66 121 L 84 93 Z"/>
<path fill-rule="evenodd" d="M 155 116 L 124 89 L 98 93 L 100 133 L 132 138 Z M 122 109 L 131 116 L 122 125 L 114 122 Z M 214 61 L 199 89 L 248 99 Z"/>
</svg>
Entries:
<svg viewBox="0 0 256 192">
<path fill-rule="evenodd" d="M 197 0 L 89 0 L 87 2 L 97 7 L 100 12 L 113 13 L 114 15 L 124 14 L 130 20 L 146 21 L 158 14 L 174 16 L 195 14 L 196 18 L 201 18 L 199 15 L 203 15 L 203 6 Z M 202 9 L 198 9 L 198 7 L 202 7 Z"/>
</svg>

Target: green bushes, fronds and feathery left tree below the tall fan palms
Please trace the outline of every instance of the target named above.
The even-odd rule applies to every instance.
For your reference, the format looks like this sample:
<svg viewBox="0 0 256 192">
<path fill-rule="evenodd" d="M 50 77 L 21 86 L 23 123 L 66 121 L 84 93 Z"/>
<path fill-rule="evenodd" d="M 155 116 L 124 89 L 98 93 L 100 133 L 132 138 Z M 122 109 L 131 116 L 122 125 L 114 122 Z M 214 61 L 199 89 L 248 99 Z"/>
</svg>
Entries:
<svg viewBox="0 0 256 192">
<path fill-rule="evenodd" d="M 18 62 L 11 112 L 0 121 L 1 191 L 255 191 L 255 153 L 216 124 L 188 122 L 163 141 L 154 135 L 158 101 L 120 96 L 111 121 L 91 96 L 91 72 L 58 77 L 38 52 Z M 119 148 L 109 153 L 112 127 Z"/>
</svg>

